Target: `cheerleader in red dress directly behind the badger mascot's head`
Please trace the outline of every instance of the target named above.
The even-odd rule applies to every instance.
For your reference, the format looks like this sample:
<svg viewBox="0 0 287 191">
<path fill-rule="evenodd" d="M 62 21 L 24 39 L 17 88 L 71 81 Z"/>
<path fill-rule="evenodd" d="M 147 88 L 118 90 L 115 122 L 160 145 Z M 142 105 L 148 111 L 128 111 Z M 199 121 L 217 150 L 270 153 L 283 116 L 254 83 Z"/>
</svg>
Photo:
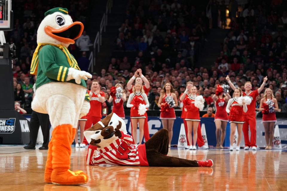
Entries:
<svg viewBox="0 0 287 191">
<path fill-rule="evenodd" d="M 126 101 L 126 94 L 123 93 L 123 86 L 122 84 L 116 84 L 116 88 L 121 87 L 122 88 L 122 97 L 120 98 L 120 102 L 116 102 L 116 99 L 112 96 L 109 97 L 109 103 L 113 102 L 113 109 L 112 112 L 117 114 L 120 118 L 125 118 L 125 112 L 123 110 L 123 102 Z"/>
</svg>

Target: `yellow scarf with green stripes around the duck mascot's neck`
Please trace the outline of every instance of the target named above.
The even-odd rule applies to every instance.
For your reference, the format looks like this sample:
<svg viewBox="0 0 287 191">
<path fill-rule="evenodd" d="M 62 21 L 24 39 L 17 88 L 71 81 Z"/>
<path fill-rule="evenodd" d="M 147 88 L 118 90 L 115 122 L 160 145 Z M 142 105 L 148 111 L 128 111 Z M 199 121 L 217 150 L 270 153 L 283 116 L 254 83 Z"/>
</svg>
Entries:
<svg viewBox="0 0 287 191">
<path fill-rule="evenodd" d="M 30 74 L 32 74 L 32 75 L 37 74 L 38 63 L 39 63 L 39 51 L 46 44 L 49 44 L 49 43 L 38 43 L 38 46 L 37 46 L 37 48 L 33 54 L 32 62 L 31 62 L 31 69 L 30 69 Z M 66 55 L 69 65 L 72 68 L 80 70 L 80 67 L 78 66 L 76 59 L 71 56 L 71 54 L 69 53 L 69 50 L 65 46 L 62 46 L 61 44 L 57 44 L 57 45 L 56 44 L 50 44 L 50 45 L 58 47 L 59 49 L 61 49 L 63 51 L 63 53 Z"/>
</svg>

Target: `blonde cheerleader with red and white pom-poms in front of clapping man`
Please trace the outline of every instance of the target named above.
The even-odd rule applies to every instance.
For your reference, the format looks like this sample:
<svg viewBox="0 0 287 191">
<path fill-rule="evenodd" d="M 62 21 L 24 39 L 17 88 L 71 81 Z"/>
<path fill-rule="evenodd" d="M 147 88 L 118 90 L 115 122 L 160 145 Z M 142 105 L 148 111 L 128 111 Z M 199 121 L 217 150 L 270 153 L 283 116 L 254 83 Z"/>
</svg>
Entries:
<svg viewBox="0 0 287 191">
<path fill-rule="evenodd" d="M 197 97 L 196 92 L 197 92 L 196 86 L 191 86 L 191 84 L 188 84 L 186 90 L 180 97 L 180 100 L 183 101 L 185 99 L 185 96 L 187 95 L 187 99 L 190 99 L 191 101 L 189 108 L 187 108 L 187 106 L 184 106 L 183 108 L 183 110 L 185 110 L 184 120 L 187 123 L 187 137 L 190 143 L 189 147 L 190 150 L 196 150 L 197 128 L 200 122 L 199 109 L 194 106 L 195 98 Z M 192 144 L 191 140 L 193 140 Z"/>
</svg>

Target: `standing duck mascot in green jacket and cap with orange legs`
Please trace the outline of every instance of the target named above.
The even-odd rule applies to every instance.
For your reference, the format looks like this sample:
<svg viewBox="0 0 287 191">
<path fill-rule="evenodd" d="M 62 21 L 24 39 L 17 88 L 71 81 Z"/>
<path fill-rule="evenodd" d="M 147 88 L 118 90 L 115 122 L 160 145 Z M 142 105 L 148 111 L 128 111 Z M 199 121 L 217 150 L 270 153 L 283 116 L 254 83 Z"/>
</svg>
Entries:
<svg viewBox="0 0 287 191">
<path fill-rule="evenodd" d="M 86 82 L 91 74 L 81 71 L 67 47 L 83 32 L 81 22 L 73 22 L 66 8 L 53 8 L 37 31 L 38 46 L 34 52 L 30 73 L 36 75 L 36 91 L 32 109 L 48 113 L 52 138 L 44 179 L 47 183 L 79 185 L 88 181 L 83 171 L 71 171 L 71 143 L 78 119 L 90 109 Z"/>
</svg>

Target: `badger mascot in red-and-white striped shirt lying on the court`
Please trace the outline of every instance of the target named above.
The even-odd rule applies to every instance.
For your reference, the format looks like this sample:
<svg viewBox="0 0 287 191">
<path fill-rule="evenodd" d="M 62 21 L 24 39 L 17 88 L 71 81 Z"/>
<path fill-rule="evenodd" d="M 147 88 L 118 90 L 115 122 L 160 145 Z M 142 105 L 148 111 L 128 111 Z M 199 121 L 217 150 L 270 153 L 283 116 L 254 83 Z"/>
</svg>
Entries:
<svg viewBox="0 0 287 191">
<path fill-rule="evenodd" d="M 167 156 L 168 131 L 161 129 L 136 147 L 122 118 L 111 113 L 84 131 L 89 143 L 87 165 L 112 164 L 151 167 L 211 167 L 212 160 L 191 161 Z"/>
</svg>

